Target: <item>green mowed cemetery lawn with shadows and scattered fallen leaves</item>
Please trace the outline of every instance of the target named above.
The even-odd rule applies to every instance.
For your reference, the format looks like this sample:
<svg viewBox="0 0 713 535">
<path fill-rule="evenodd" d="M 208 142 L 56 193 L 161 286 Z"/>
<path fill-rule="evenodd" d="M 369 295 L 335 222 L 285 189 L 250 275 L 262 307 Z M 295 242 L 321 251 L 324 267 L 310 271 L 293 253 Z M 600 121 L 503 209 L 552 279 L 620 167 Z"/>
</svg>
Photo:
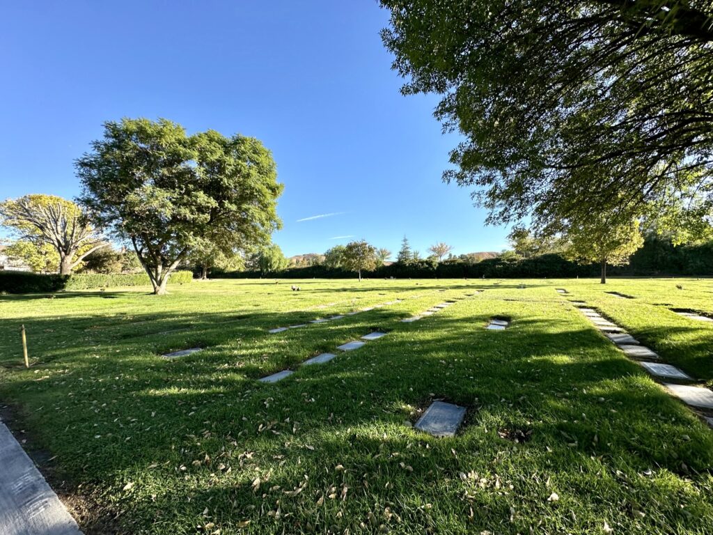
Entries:
<svg viewBox="0 0 713 535">
<path fill-rule="evenodd" d="M 169 290 L 0 297 L 0 406 L 86 533 L 713 532 L 713 430 L 569 303 L 712 385 L 713 323 L 671 311 L 713 315 L 712 280 Z M 336 350 L 373 330 L 388 335 Z M 205 350 L 160 357 L 189 347 Z M 322 352 L 337 357 L 299 367 Z M 434 399 L 468 407 L 456 437 L 411 427 Z"/>
</svg>

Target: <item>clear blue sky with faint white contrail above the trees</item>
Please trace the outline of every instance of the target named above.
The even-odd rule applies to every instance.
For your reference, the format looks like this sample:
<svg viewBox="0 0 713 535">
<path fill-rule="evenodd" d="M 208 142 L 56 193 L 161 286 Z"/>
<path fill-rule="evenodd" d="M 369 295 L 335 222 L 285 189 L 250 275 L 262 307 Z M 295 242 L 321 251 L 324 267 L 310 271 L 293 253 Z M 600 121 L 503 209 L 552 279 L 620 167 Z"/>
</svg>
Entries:
<svg viewBox="0 0 713 535">
<path fill-rule="evenodd" d="M 79 193 L 73 161 L 101 123 L 165 117 L 270 148 L 286 255 L 364 238 L 426 254 L 501 250 L 468 190 L 441 182 L 436 96 L 399 93 L 376 1 L 4 2 L 0 198 Z"/>
</svg>

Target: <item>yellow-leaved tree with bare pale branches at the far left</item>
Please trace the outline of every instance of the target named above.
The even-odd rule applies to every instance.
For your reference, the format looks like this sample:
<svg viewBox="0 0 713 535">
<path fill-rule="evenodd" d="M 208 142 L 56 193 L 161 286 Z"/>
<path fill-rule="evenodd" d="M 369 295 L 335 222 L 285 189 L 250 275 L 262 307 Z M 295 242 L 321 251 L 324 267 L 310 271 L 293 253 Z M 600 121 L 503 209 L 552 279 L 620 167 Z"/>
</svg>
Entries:
<svg viewBox="0 0 713 535">
<path fill-rule="evenodd" d="M 28 254 L 46 256 L 53 248 L 61 275 L 69 275 L 87 255 L 108 245 L 80 206 L 56 195 L 25 195 L 0 203 L 0 224 L 12 228 L 20 242 L 31 244 L 23 249 Z M 17 252 L 20 248 L 16 246 Z"/>
</svg>

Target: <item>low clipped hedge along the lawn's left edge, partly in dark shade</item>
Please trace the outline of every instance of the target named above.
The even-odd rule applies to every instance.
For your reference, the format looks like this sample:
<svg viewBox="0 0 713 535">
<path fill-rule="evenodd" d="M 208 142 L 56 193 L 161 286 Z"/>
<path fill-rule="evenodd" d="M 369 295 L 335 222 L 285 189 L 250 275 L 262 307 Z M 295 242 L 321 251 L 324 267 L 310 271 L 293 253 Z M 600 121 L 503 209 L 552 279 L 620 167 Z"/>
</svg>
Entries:
<svg viewBox="0 0 713 535">
<path fill-rule="evenodd" d="M 183 284 L 193 280 L 190 271 L 175 271 L 170 276 L 170 284 Z M 36 293 L 57 292 L 59 290 L 91 290 L 94 288 L 148 286 L 148 275 L 82 273 L 80 275 L 40 275 L 24 271 L 0 271 L 0 292 Z"/>
</svg>

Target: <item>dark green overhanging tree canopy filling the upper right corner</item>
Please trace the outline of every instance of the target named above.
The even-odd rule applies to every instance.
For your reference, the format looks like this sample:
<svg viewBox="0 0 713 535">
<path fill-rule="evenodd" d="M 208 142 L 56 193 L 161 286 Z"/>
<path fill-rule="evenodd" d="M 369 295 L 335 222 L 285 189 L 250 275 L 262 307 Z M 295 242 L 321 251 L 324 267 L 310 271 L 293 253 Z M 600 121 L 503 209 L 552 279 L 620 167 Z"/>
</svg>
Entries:
<svg viewBox="0 0 713 535">
<path fill-rule="evenodd" d="M 650 200 L 711 183 L 709 0 L 381 4 L 402 91 L 440 93 L 436 117 L 464 136 L 444 179 L 476 186 L 488 223 L 626 222 Z M 697 183 L 682 180 L 690 173 Z"/>
</svg>

